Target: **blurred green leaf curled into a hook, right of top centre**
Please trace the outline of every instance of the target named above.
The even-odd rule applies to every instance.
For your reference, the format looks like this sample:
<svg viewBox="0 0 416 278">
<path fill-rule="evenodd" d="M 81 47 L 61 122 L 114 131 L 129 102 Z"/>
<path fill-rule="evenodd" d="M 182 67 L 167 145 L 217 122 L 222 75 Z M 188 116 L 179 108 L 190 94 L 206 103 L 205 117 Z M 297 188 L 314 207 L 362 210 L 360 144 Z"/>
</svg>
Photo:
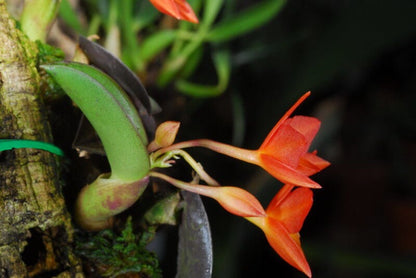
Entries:
<svg viewBox="0 0 416 278">
<path fill-rule="evenodd" d="M 217 71 L 218 83 L 215 86 L 206 86 L 188 82 L 186 80 L 178 80 L 176 88 L 193 97 L 214 97 L 222 94 L 228 85 L 231 72 L 231 63 L 228 51 L 218 51 L 213 54 L 213 62 Z"/>
</svg>

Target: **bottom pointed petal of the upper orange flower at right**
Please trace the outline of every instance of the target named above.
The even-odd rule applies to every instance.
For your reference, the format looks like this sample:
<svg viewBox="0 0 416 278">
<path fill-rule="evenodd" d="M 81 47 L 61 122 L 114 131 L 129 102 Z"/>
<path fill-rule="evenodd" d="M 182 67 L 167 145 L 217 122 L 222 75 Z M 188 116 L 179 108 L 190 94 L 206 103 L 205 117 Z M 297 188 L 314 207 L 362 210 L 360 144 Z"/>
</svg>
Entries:
<svg viewBox="0 0 416 278">
<path fill-rule="evenodd" d="M 259 159 L 261 161 L 261 166 L 273 177 L 283 183 L 290 183 L 310 188 L 321 188 L 318 183 L 308 178 L 308 176 L 289 167 L 270 155 L 260 153 Z"/>
</svg>

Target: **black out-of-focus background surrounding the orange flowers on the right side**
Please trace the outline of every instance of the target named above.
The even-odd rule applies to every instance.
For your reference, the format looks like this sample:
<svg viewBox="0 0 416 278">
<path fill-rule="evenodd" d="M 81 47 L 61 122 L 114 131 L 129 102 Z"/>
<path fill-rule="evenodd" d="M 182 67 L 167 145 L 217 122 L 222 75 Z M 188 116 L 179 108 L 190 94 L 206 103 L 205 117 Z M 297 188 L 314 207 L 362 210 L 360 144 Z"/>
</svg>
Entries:
<svg viewBox="0 0 416 278">
<path fill-rule="evenodd" d="M 233 74 L 225 94 L 155 96 L 163 118 L 182 122 L 178 140 L 257 148 L 312 91 L 295 114 L 322 121 L 313 148 L 332 163 L 313 177 L 323 188 L 301 231 L 314 277 L 416 277 L 415 14 L 413 0 L 288 1 L 272 22 L 228 45 Z M 190 152 L 222 184 L 244 186 L 264 206 L 281 186 L 255 166 Z M 204 202 L 213 277 L 304 277 L 259 229 Z"/>
</svg>

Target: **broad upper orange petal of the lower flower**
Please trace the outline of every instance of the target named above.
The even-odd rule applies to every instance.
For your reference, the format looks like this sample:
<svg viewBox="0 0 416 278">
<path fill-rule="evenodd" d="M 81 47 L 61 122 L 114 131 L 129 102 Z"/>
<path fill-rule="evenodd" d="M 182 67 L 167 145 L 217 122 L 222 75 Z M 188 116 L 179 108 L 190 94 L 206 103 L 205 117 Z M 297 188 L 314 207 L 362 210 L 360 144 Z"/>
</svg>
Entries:
<svg viewBox="0 0 416 278">
<path fill-rule="evenodd" d="M 276 195 L 278 197 L 278 194 Z M 277 199 L 277 198 L 276 198 Z M 309 188 L 297 188 L 283 200 L 270 202 L 267 215 L 283 223 L 289 233 L 298 233 L 313 203 L 313 193 Z"/>
</svg>

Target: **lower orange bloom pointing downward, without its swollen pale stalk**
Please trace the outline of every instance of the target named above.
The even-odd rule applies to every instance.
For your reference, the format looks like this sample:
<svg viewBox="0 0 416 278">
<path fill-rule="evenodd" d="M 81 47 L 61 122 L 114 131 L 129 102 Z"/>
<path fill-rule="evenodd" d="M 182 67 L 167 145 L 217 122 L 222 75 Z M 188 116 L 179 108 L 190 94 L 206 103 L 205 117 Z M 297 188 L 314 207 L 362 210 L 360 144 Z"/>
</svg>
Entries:
<svg viewBox="0 0 416 278">
<path fill-rule="evenodd" d="M 308 215 L 313 193 L 309 188 L 284 185 L 270 202 L 265 217 L 246 219 L 263 230 L 270 246 L 288 264 L 311 277 L 311 269 L 300 245 L 299 231 Z"/>
</svg>

